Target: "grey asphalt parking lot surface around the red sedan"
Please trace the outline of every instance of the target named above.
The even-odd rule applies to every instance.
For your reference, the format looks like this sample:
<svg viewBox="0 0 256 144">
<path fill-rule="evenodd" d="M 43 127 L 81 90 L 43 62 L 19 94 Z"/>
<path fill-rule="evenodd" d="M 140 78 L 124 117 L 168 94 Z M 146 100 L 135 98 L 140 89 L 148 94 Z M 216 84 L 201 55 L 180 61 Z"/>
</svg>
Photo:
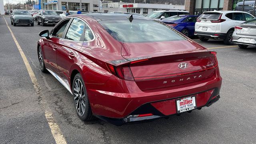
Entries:
<svg viewBox="0 0 256 144">
<path fill-rule="evenodd" d="M 220 100 L 202 110 L 169 119 L 114 126 L 98 119 L 81 121 L 68 90 L 51 74 L 40 71 L 36 51 L 38 33 L 52 28 L 38 26 L 36 22 L 34 27 L 14 27 L 10 16 L 0 16 L 0 143 L 256 143 L 256 48 L 240 49 L 236 45 L 224 45 L 220 40 L 194 39 L 218 52 L 223 78 Z M 24 63 L 17 43 L 28 64 Z M 37 86 L 32 83 L 28 65 Z M 61 138 L 58 134 L 65 142 L 58 141 Z"/>
</svg>

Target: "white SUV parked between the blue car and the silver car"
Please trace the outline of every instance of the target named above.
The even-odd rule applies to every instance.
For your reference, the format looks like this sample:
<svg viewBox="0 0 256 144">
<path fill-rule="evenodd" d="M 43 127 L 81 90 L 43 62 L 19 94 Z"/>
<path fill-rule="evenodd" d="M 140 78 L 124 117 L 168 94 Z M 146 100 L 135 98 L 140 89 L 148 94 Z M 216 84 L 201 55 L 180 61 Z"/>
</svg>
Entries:
<svg viewBox="0 0 256 144">
<path fill-rule="evenodd" d="M 234 27 L 254 18 L 251 14 L 241 11 L 211 11 L 204 12 L 195 24 L 195 35 L 201 41 L 211 39 L 224 40 L 225 44 L 232 43 Z"/>
</svg>

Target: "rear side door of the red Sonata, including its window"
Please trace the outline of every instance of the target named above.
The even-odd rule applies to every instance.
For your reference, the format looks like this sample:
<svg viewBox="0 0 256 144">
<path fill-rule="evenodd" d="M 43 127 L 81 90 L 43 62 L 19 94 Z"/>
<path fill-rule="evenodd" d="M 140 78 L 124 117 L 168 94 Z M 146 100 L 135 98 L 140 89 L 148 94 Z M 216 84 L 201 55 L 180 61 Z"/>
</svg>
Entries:
<svg viewBox="0 0 256 144">
<path fill-rule="evenodd" d="M 84 21 L 73 18 L 64 39 L 60 41 L 60 48 L 57 50 L 59 76 L 66 82 L 69 81 L 70 69 L 76 62 L 78 51 L 83 46 L 84 28 Z"/>
</svg>

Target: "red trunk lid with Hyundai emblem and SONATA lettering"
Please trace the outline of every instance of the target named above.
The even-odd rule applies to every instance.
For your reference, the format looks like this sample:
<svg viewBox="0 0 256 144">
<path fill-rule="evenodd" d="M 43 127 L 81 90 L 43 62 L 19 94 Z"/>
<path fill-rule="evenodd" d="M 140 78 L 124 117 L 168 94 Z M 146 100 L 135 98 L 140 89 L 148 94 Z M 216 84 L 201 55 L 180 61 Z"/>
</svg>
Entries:
<svg viewBox="0 0 256 144">
<path fill-rule="evenodd" d="M 122 56 L 129 61 L 134 80 L 141 90 L 186 84 L 214 74 L 215 56 L 187 40 L 152 43 L 124 43 Z"/>
</svg>

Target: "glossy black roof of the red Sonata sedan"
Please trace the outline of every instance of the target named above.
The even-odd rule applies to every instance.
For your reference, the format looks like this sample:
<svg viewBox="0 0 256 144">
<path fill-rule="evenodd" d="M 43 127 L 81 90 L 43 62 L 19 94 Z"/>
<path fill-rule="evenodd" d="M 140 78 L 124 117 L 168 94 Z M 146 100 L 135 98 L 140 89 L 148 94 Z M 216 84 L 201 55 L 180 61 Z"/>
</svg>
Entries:
<svg viewBox="0 0 256 144">
<path fill-rule="evenodd" d="M 77 17 L 90 17 L 97 21 L 102 20 L 127 20 L 130 14 L 112 14 L 112 13 L 90 13 L 90 14 L 77 14 Z M 144 16 L 132 15 L 135 20 L 153 20 Z"/>
</svg>

